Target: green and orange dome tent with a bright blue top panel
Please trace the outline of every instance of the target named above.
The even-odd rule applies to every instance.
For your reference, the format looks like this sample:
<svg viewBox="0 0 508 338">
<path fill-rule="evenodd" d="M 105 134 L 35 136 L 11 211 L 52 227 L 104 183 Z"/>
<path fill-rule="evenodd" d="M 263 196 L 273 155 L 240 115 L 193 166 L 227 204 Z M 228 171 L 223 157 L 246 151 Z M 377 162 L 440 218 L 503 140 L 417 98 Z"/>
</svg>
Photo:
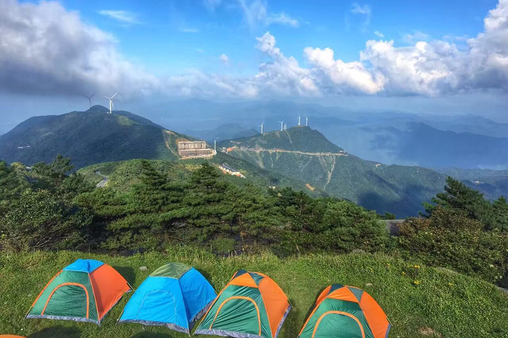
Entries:
<svg viewBox="0 0 508 338">
<path fill-rule="evenodd" d="M 41 291 L 26 318 L 101 321 L 132 288 L 111 266 L 78 259 L 64 267 Z"/>
</svg>

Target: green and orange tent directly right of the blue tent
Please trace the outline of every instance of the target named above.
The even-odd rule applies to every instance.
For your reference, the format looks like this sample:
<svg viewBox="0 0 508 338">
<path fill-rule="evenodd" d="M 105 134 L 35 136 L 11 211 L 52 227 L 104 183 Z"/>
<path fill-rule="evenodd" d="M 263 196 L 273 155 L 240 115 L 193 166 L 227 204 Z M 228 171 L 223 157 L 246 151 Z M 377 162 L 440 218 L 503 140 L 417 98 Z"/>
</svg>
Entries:
<svg viewBox="0 0 508 338">
<path fill-rule="evenodd" d="M 195 333 L 236 338 L 276 338 L 291 310 L 272 279 L 238 271 L 220 291 Z"/>
</svg>

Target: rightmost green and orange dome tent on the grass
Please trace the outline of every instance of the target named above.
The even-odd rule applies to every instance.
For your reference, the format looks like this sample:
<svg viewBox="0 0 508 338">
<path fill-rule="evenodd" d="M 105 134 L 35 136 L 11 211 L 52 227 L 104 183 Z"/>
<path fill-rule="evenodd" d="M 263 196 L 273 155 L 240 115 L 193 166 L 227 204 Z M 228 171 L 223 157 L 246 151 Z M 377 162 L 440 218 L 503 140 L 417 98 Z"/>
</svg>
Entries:
<svg viewBox="0 0 508 338">
<path fill-rule="evenodd" d="M 334 284 L 317 298 L 299 338 L 387 338 L 391 324 L 367 292 Z"/>
</svg>

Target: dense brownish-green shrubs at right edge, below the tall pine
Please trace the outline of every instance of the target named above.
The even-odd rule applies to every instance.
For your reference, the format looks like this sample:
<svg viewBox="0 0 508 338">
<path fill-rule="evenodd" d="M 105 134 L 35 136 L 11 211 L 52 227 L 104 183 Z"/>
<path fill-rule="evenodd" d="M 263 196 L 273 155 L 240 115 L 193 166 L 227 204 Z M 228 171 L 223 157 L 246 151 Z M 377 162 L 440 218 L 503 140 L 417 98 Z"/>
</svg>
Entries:
<svg viewBox="0 0 508 338">
<path fill-rule="evenodd" d="M 481 221 L 437 206 L 429 218 L 405 221 L 396 241 L 406 258 L 497 282 L 508 271 L 508 236 L 483 228 Z"/>
</svg>

